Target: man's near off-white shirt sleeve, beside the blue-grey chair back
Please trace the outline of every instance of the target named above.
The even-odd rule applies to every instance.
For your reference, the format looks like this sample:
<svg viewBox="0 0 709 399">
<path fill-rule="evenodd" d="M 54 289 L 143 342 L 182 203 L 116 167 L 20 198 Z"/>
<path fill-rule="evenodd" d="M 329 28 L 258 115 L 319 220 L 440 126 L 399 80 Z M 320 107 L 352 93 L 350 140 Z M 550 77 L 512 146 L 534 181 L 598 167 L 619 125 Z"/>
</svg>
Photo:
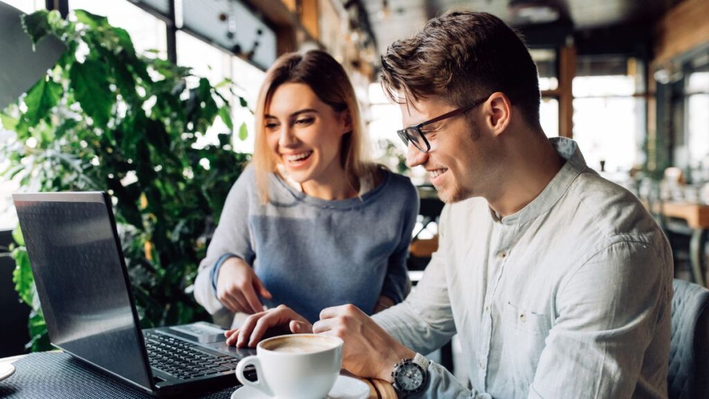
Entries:
<svg viewBox="0 0 709 399">
<path fill-rule="evenodd" d="M 669 266 L 671 259 L 640 242 L 617 242 L 580 266 L 557 294 L 557 322 L 529 398 L 631 398 L 636 387 L 666 387 L 666 368 L 650 384 L 640 371 L 646 356 L 667 358 L 646 353 L 654 337 L 669 351 Z"/>
</svg>

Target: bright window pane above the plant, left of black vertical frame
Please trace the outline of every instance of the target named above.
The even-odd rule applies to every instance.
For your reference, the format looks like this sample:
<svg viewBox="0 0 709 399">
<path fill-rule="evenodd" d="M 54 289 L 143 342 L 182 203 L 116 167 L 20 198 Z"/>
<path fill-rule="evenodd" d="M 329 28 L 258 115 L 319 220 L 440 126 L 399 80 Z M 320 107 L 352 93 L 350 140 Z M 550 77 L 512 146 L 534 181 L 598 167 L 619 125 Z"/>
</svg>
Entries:
<svg viewBox="0 0 709 399">
<path fill-rule="evenodd" d="M 160 18 L 130 4 L 128 1 L 69 0 L 69 9 L 82 9 L 108 17 L 108 23 L 128 31 L 138 54 L 157 50 L 158 57 L 167 59 L 167 26 Z"/>
</svg>

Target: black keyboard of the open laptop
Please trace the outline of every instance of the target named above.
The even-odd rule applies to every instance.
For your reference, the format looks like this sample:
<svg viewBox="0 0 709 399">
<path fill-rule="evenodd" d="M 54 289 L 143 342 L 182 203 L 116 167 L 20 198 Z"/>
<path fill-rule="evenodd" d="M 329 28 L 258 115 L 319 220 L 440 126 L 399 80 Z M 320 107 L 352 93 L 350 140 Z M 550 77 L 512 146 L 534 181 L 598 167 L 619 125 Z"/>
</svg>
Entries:
<svg viewBox="0 0 709 399">
<path fill-rule="evenodd" d="M 181 380 L 234 370 L 239 361 L 167 335 L 146 332 L 144 336 L 150 366 Z"/>
</svg>

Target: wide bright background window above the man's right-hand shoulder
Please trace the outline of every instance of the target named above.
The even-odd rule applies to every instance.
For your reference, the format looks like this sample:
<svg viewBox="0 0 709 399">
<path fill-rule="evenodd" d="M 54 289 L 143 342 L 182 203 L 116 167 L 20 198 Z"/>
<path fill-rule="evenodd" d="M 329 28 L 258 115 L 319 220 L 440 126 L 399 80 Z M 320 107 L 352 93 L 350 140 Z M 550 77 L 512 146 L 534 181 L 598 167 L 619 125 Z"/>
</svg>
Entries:
<svg viewBox="0 0 709 399">
<path fill-rule="evenodd" d="M 574 94 L 574 140 L 589 167 L 627 172 L 642 162 L 645 99 L 642 68 L 633 58 L 579 57 Z"/>
</svg>

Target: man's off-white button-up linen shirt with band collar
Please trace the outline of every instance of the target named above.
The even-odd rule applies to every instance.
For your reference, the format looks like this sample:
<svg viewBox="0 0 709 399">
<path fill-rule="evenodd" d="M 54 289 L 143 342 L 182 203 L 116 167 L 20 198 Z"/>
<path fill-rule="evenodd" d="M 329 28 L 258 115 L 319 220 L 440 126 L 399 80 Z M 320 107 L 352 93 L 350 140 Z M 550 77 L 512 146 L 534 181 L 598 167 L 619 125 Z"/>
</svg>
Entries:
<svg viewBox="0 0 709 399">
<path fill-rule="evenodd" d="M 576 143 L 525 208 L 445 206 L 439 249 L 411 295 L 374 320 L 428 353 L 456 332 L 473 390 L 429 366 L 426 398 L 666 398 L 671 249 L 637 198 Z"/>
</svg>

